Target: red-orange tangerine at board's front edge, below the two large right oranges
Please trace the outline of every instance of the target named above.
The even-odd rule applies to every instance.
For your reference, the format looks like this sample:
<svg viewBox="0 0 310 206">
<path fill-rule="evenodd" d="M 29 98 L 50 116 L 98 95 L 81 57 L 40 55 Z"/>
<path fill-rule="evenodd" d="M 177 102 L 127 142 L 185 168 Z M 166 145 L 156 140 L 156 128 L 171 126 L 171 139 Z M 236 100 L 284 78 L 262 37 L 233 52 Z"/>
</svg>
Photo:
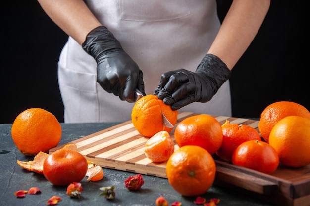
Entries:
<svg viewBox="0 0 310 206">
<path fill-rule="evenodd" d="M 276 150 L 268 143 L 249 140 L 236 148 L 232 156 L 232 163 L 271 174 L 278 168 L 279 157 Z"/>
</svg>

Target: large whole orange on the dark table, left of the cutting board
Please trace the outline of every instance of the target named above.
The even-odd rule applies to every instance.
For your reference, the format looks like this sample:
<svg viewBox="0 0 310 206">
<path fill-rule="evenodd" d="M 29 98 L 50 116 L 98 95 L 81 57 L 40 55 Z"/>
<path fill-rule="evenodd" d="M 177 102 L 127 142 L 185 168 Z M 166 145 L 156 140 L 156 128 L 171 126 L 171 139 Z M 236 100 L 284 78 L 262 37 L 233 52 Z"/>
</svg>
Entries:
<svg viewBox="0 0 310 206">
<path fill-rule="evenodd" d="M 12 124 L 12 138 L 21 153 L 35 156 L 48 153 L 61 139 L 61 126 L 56 117 L 41 108 L 21 112 Z"/>
</svg>

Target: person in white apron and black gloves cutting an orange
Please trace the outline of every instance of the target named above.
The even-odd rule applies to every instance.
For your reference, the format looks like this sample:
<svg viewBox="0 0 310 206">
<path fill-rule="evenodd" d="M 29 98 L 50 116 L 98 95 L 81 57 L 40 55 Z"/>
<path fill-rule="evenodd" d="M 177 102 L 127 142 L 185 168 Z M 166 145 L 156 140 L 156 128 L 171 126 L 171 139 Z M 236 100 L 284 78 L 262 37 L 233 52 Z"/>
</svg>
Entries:
<svg viewBox="0 0 310 206">
<path fill-rule="evenodd" d="M 270 0 L 234 0 L 222 25 L 216 0 L 39 3 L 69 35 L 58 81 L 64 120 L 73 123 L 130 120 L 136 89 L 172 109 L 231 116 L 230 70 Z"/>
</svg>

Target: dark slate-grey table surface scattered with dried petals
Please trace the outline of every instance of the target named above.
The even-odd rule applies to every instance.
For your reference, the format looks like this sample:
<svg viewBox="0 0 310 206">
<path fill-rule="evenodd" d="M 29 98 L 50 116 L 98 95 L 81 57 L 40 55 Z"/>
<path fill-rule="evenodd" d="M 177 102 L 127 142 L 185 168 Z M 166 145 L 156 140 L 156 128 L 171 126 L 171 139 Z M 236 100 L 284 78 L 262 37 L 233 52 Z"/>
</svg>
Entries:
<svg viewBox="0 0 310 206">
<path fill-rule="evenodd" d="M 66 144 L 75 139 L 87 136 L 118 123 L 84 123 L 64 124 L 62 126 L 61 144 Z M 155 206 L 155 200 L 163 196 L 169 204 L 178 201 L 182 206 L 197 206 L 193 203 L 195 198 L 183 197 L 170 185 L 167 179 L 142 175 L 145 181 L 139 191 L 130 192 L 125 188 L 124 180 L 135 173 L 103 168 L 104 178 L 97 182 L 81 183 L 84 191 L 80 199 L 70 198 L 66 195 L 66 187 L 53 186 L 45 177 L 35 172 L 21 168 L 16 160 L 29 161 L 33 157 L 24 156 L 15 146 L 11 137 L 12 124 L 0 124 L 0 206 L 44 206 L 52 196 L 60 196 L 59 206 Z M 116 198 L 106 200 L 99 196 L 100 187 L 115 185 Z M 37 195 L 26 195 L 25 198 L 17 198 L 14 195 L 18 190 L 29 190 L 38 187 L 41 190 Z M 259 199 L 247 196 L 243 193 L 212 186 L 201 197 L 208 199 L 218 198 L 218 206 L 274 206 Z"/>
</svg>

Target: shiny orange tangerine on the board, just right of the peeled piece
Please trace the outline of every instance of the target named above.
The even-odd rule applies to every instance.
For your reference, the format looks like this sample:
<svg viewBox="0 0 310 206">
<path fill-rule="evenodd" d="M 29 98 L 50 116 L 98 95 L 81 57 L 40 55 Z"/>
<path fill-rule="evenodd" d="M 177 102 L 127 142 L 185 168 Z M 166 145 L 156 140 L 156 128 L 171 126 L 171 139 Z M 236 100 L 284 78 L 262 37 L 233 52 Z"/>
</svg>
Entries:
<svg viewBox="0 0 310 206">
<path fill-rule="evenodd" d="M 223 131 L 214 117 L 200 114 L 182 120 L 175 127 L 174 139 L 179 147 L 196 145 L 213 155 L 222 144 Z"/>
</svg>

